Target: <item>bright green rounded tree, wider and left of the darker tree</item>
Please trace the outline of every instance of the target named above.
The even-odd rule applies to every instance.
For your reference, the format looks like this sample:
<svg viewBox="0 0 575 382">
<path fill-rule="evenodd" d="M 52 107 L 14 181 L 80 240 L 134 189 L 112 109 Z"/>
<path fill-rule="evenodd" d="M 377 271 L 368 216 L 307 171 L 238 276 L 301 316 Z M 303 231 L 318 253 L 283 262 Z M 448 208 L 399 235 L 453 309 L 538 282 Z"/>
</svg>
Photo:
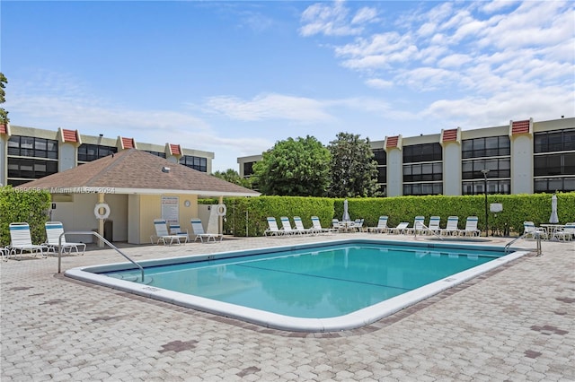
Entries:
<svg viewBox="0 0 575 382">
<path fill-rule="evenodd" d="M 279 141 L 253 165 L 254 187 L 264 195 L 325 196 L 331 160 L 313 136 Z"/>
</svg>

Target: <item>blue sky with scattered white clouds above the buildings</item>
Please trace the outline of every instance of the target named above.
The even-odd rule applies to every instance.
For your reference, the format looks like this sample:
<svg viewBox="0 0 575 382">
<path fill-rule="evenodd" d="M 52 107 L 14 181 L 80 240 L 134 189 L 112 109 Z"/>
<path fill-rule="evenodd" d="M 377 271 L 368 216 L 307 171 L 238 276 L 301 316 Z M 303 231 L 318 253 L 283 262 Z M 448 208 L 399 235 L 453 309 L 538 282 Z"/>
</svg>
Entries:
<svg viewBox="0 0 575 382">
<path fill-rule="evenodd" d="M 575 116 L 568 1 L 10 1 L 11 124 L 180 143 L 237 169 L 288 137 L 372 141 Z"/>
</svg>

